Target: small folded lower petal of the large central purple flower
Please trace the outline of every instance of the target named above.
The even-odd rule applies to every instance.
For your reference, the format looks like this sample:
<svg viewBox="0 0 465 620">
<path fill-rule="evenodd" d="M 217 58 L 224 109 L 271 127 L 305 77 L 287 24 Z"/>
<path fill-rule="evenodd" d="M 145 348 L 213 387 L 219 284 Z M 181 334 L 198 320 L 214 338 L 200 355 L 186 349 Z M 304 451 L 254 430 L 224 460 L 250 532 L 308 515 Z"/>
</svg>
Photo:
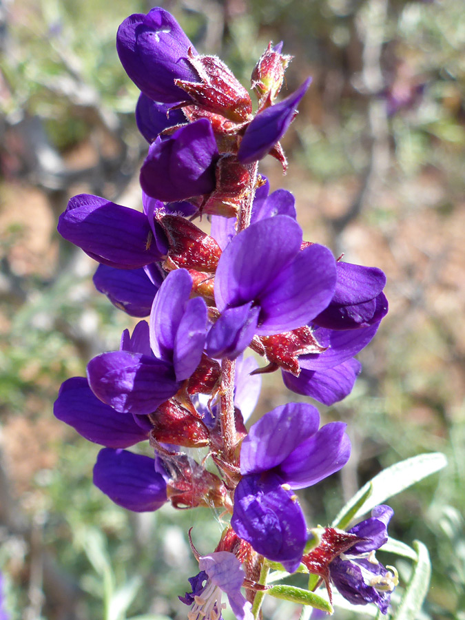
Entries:
<svg viewBox="0 0 465 620">
<path fill-rule="evenodd" d="M 237 308 L 228 308 L 207 335 L 205 351 L 211 358 L 235 360 L 249 346 L 257 330 L 260 309 L 251 302 Z"/>
</svg>

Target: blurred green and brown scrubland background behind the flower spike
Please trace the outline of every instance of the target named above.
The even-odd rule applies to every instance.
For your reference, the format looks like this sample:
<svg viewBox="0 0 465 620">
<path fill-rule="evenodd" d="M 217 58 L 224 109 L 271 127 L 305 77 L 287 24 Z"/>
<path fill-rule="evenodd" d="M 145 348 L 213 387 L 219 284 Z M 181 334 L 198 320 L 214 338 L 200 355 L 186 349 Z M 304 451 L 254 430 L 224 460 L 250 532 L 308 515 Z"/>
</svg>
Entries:
<svg viewBox="0 0 465 620">
<path fill-rule="evenodd" d="M 56 233 L 81 192 L 140 208 L 138 91 L 118 62 L 119 23 L 141 0 L 0 0 L 0 571 L 12 620 L 187 617 L 177 596 L 222 526 L 209 510 L 130 514 L 92 486 L 99 446 L 54 419 L 63 380 L 118 347 L 134 322 L 94 290 L 96 264 Z M 391 534 L 433 563 L 424 617 L 465 618 L 465 14 L 458 0 L 174 0 L 199 52 L 244 85 L 271 40 L 293 54 L 287 92 L 311 75 L 271 189 L 296 196 L 305 238 L 381 267 L 391 311 L 359 356 L 341 476 L 302 494 L 327 524 L 385 466 L 442 451 L 448 468 L 390 502 Z M 285 94 L 283 91 L 282 94 Z M 261 413 L 296 395 L 265 375 Z M 392 557 L 382 557 L 384 564 Z M 403 581 L 409 564 L 396 559 Z M 1 595 L 0 595 L 1 597 Z M 269 597 L 268 597 L 269 598 Z M 267 617 L 297 618 L 271 601 Z M 0 612 L 1 615 L 1 612 Z M 336 612 L 335 619 L 353 617 Z M 413 620 L 413 619 L 412 619 Z"/>
</svg>

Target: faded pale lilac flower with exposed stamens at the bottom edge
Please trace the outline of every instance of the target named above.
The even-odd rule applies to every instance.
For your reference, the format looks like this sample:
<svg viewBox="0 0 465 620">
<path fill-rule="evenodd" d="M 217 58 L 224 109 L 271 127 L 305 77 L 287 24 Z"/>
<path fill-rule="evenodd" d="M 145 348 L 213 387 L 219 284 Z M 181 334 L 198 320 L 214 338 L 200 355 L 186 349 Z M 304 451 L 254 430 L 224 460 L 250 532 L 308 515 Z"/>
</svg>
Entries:
<svg viewBox="0 0 465 620">
<path fill-rule="evenodd" d="M 186 592 L 180 601 L 192 606 L 188 617 L 218 620 L 225 609 L 223 592 L 238 620 L 253 620 L 251 603 L 246 601 L 240 588 L 245 579 L 240 561 L 229 551 L 216 551 L 198 560 L 200 572 L 189 579 L 192 592 Z"/>
</svg>

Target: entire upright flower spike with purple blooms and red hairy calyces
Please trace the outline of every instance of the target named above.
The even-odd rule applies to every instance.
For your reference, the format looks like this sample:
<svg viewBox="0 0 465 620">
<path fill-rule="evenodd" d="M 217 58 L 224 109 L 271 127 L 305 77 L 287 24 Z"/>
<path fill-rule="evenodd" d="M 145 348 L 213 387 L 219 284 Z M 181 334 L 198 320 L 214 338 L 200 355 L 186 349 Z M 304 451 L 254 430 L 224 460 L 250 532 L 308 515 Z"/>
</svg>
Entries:
<svg viewBox="0 0 465 620">
<path fill-rule="evenodd" d="M 87 378 L 65 381 L 54 414 L 104 446 L 94 484 L 116 504 L 223 511 L 213 552 L 191 539 L 200 572 L 180 599 L 189 620 L 218 620 L 223 593 L 238 619 L 258 617 L 265 594 L 332 612 L 333 588 L 386 614 L 397 571 L 375 550 L 393 510 L 380 502 L 347 531 L 309 529 L 296 495 L 347 463 L 346 424 L 320 426 L 316 407 L 291 402 L 246 428 L 261 373 L 280 371 L 287 388 L 325 405 L 347 396 L 361 370 L 354 356 L 388 310 L 384 273 L 303 240 L 292 194 L 270 194 L 258 172 L 267 155 L 286 170 L 280 138 L 311 80 L 277 102 L 291 57 L 270 43 L 251 76 L 254 114 L 227 66 L 198 54 L 161 8 L 123 21 L 116 47 L 141 90 L 143 211 L 80 194 L 58 229 L 100 263 L 96 288 L 149 320 L 90 360 Z M 210 234 L 195 220 L 208 220 Z M 140 442 L 154 457 L 126 449 Z M 271 568 L 308 573 L 309 589 L 269 585 Z M 321 584 L 329 601 L 311 591 Z"/>
</svg>

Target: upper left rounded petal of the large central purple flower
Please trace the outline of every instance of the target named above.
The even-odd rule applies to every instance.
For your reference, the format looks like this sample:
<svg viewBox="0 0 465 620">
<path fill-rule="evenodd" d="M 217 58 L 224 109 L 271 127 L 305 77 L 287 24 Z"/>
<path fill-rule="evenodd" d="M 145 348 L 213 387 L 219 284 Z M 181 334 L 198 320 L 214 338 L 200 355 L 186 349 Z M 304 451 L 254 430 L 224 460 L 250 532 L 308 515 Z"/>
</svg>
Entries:
<svg viewBox="0 0 465 620">
<path fill-rule="evenodd" d="M 223 251 L 216 269 L 218 310 L 258 298 L 298 254 L 301 243 L 302 229 L 287 216 L 261 220 L 240 232 Z"/>
</svg>

